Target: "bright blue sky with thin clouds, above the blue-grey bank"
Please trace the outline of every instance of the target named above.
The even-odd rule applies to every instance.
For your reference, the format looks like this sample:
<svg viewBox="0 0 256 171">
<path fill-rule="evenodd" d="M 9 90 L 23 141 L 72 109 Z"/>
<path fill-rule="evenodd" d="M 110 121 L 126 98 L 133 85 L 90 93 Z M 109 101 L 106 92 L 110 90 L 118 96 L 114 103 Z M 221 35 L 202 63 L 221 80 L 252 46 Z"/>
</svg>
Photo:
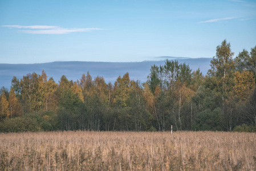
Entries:
<svg viewBox="0 0 256 171">
<path fill-rule="evenodd" d="M 256 1 L 0 0 L 0 63 L 212 58 L 256 46 Z"/>
</svg>

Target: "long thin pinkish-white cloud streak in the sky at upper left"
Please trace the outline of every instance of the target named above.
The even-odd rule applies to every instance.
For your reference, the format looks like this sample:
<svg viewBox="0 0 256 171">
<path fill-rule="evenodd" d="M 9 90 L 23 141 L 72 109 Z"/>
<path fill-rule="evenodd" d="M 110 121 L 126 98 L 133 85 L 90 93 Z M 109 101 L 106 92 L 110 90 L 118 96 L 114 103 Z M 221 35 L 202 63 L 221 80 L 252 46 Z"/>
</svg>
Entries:
<svg viewBox="0 0 256 171">
<path fill-rule="evenodd" d="M 102 28 L 62 28 L 58 26 L 20 26 L 20 25 L 5 25 L 2 27 L 9 28 L 28 28 L 31 30 L 19 30 L 27 34 L 68 34 L 70 32 L 83 32 L 92 30 L 103 30 Z"/>
</svg>

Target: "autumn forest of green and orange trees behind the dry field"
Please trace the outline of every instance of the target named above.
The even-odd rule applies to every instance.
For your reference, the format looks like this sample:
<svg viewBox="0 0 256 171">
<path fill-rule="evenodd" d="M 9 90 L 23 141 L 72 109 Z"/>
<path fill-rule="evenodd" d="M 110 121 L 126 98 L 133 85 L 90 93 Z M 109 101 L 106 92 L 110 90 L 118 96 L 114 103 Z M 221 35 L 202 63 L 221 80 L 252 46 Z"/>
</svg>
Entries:
<svg viewBox="0 0 256 171">
<path fill-rule="evenodd" d="M 166 60 L 147 82 L 83 74 L 56 83 L 46 72 L 13 77 L 0 89 L 0 132 L 256 131 L 256 46 L 237 56 L 224 40 L 202 75 Z"/>
</svg>

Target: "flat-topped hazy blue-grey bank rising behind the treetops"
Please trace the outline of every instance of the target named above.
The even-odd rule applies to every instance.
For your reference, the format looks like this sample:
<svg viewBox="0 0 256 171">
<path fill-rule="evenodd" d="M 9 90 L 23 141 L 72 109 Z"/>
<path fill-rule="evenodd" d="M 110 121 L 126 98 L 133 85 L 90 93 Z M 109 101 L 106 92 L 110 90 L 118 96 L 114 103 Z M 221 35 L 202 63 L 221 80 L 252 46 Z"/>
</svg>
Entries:
<svg viewBox="0 0 256 171">
<path fill-rule="evenodd" d="M 168 56 L 164 56 L 168 58 Z M 82 74 L 90 72 L 92 78 L 97 75 L 103 76 L 105 82 L 114 83 L 117 77 L 123 76 L 129 72 L 130 79 L 140 80 L 141 83 L 147 81 L 147 76 L 153 64 L 159 66 L 164 64 L 164 59 L 160 61 L 144 62 L 51 62 L 35 64 L 0 64 L 0 87 L 4 86 L 10 89 L 13 76 L 21 79 L 23 75 L 36 72 L 41 74 L 44 70 L 48 78 L 54 78 L 58 83 L 62 75 L 67 76 L 68 80 L 80 79 Z M 211 58 L 176 58 L 180 63 L 189 64 L 192 70 L 200 68 L 202 74 L 209 70 Z"/>
</svg>

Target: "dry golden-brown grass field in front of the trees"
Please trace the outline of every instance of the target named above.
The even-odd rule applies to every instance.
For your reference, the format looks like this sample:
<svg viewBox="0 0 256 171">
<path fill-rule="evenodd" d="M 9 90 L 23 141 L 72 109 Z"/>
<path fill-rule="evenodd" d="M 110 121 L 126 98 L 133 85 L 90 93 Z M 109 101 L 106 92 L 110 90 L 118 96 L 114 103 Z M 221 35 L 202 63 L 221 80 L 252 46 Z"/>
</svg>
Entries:
<svg viewBox="0 0 256 171">
<path fill-rule="evenodd" d="M 0 134 L 0 170 L 256 170 L 256 134 Z"/>
</svg>

